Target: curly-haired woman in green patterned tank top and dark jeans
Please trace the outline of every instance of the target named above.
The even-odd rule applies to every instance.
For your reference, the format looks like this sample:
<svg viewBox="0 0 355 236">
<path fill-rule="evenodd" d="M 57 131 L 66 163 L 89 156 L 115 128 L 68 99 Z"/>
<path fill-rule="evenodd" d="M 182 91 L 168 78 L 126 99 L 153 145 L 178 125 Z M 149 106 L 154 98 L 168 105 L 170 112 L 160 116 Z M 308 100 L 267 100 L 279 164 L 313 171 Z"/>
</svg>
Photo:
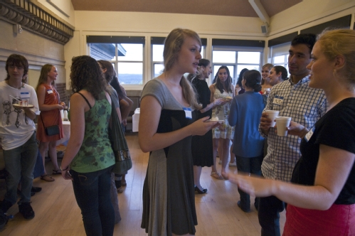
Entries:
<svg viewBox="0 0 355 236">
<path fill-rule="evenodd" d="M 70 69 L 71 135 L 60 170 L 63 178 L 73 181 L 86 235 L 112 235 L 115 212 L 110 178 L 115 155 L 108 136 L 112 101 L 94 58 L 75 57 Z"/>
</svg>

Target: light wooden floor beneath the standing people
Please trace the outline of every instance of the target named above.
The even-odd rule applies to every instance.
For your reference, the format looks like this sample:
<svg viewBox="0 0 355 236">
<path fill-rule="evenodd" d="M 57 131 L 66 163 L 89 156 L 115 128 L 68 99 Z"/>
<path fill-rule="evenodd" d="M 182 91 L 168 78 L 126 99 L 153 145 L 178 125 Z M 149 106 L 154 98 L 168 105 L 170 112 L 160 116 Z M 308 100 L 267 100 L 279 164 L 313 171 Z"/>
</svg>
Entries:
<svg viewBox="0 0 355 236">
<path fill-rule="evenodd" d="M 114 235 L 147 235 L 140 227 L 142 218 L 142 187 L 147 171 L 148 154 L 139 149 L 137 133 L 127 134 L 133 167 L 127 175 L 127 187 L 118 195 L 122 220 L 115 225 Z M 46 169 L 51 171 L 51 163 Z M 230 167 L 230 171 L 235 171 Z M 221 165 L 218 165 L 221 171 Z M 244 213 L 237 206 L 239 194 L 237 187 L 229 181 L 221 181 L 210 176 L 211 168 L 202 169 L 201 185 L 208 188 L 204 195 L 196 195 L 198 225 L 196 235 L 260 235 L 258 214 L 252 204 L 252 212 Z M 51 172 L 48 172 L 51 173 Z M 85 235 L 80 209 L 75 201 L 73 186 L 61 176 L 53 176 L 54 182 L 37 178 L 33 186 L 42 187 L 32 200 L 36 213 L 33 220 L 24 220 L 18 213 L 17 204 L 9 210 L 14 215 L 0 235 Z M 5 193 L 5 183 L 0 181 L 0 198 Z M 254 200 L 251 200 L 252 203 Z M 281 213 L 280 225 L 284 227 L 285 211 Z"/>
</svg>

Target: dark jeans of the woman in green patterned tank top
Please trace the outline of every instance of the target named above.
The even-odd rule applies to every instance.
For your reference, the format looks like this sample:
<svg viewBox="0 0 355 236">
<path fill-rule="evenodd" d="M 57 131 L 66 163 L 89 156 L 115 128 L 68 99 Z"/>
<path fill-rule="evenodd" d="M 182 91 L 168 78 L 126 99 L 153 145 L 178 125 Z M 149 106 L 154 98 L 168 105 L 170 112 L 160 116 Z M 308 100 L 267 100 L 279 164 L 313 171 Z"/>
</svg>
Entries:
<svg viewBox="0 0 355 236">
<path fill-rule="evenodd" d="M 75 198 L 88 236 L 113 235 L 115 212 L 110 196 L 111 169 L 112 166 L 90 173 L 70 171 Z"/>
</svg>

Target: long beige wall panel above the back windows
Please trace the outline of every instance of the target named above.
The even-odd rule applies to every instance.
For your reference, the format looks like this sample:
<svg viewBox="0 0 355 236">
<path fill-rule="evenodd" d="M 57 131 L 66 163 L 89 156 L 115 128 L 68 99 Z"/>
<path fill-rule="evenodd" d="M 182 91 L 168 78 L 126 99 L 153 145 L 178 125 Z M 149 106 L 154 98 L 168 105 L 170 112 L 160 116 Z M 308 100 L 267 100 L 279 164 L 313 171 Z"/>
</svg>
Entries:
<svg viewBox="0 0 355 236">
<path fill-rule="evenodd" d="M 75 11 L 75 29 L 169 33 L 173 28 L 190 28 L 198 33 L 262 36 L 260 18 L 159 14 L 145 12 Z"/>
</svg>

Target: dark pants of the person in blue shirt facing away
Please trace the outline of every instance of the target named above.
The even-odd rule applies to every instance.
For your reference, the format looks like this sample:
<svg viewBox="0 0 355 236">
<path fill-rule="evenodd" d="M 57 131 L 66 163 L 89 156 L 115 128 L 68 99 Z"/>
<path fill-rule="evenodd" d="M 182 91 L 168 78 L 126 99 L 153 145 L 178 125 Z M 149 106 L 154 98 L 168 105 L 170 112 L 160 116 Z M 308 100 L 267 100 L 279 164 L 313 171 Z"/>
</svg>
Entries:
<svg viewBox="0 0 355 236">
<path fill-rule="evenodd" d="M 257 176 L 261 176 L 261 163 L 263 161 L 263 156 L 258 157 L 241 157 L 235 156 L 237 160 L 238 171 L 245 173 L 253 173 Z M 243 210 L 250 210 L 250 195 L 241 191 L 238 188 L 238 193 L 240 195 L 240 207 Z M 258 198 L 255 198 L 255 208 L 258 210 Z"/>
</svg>

